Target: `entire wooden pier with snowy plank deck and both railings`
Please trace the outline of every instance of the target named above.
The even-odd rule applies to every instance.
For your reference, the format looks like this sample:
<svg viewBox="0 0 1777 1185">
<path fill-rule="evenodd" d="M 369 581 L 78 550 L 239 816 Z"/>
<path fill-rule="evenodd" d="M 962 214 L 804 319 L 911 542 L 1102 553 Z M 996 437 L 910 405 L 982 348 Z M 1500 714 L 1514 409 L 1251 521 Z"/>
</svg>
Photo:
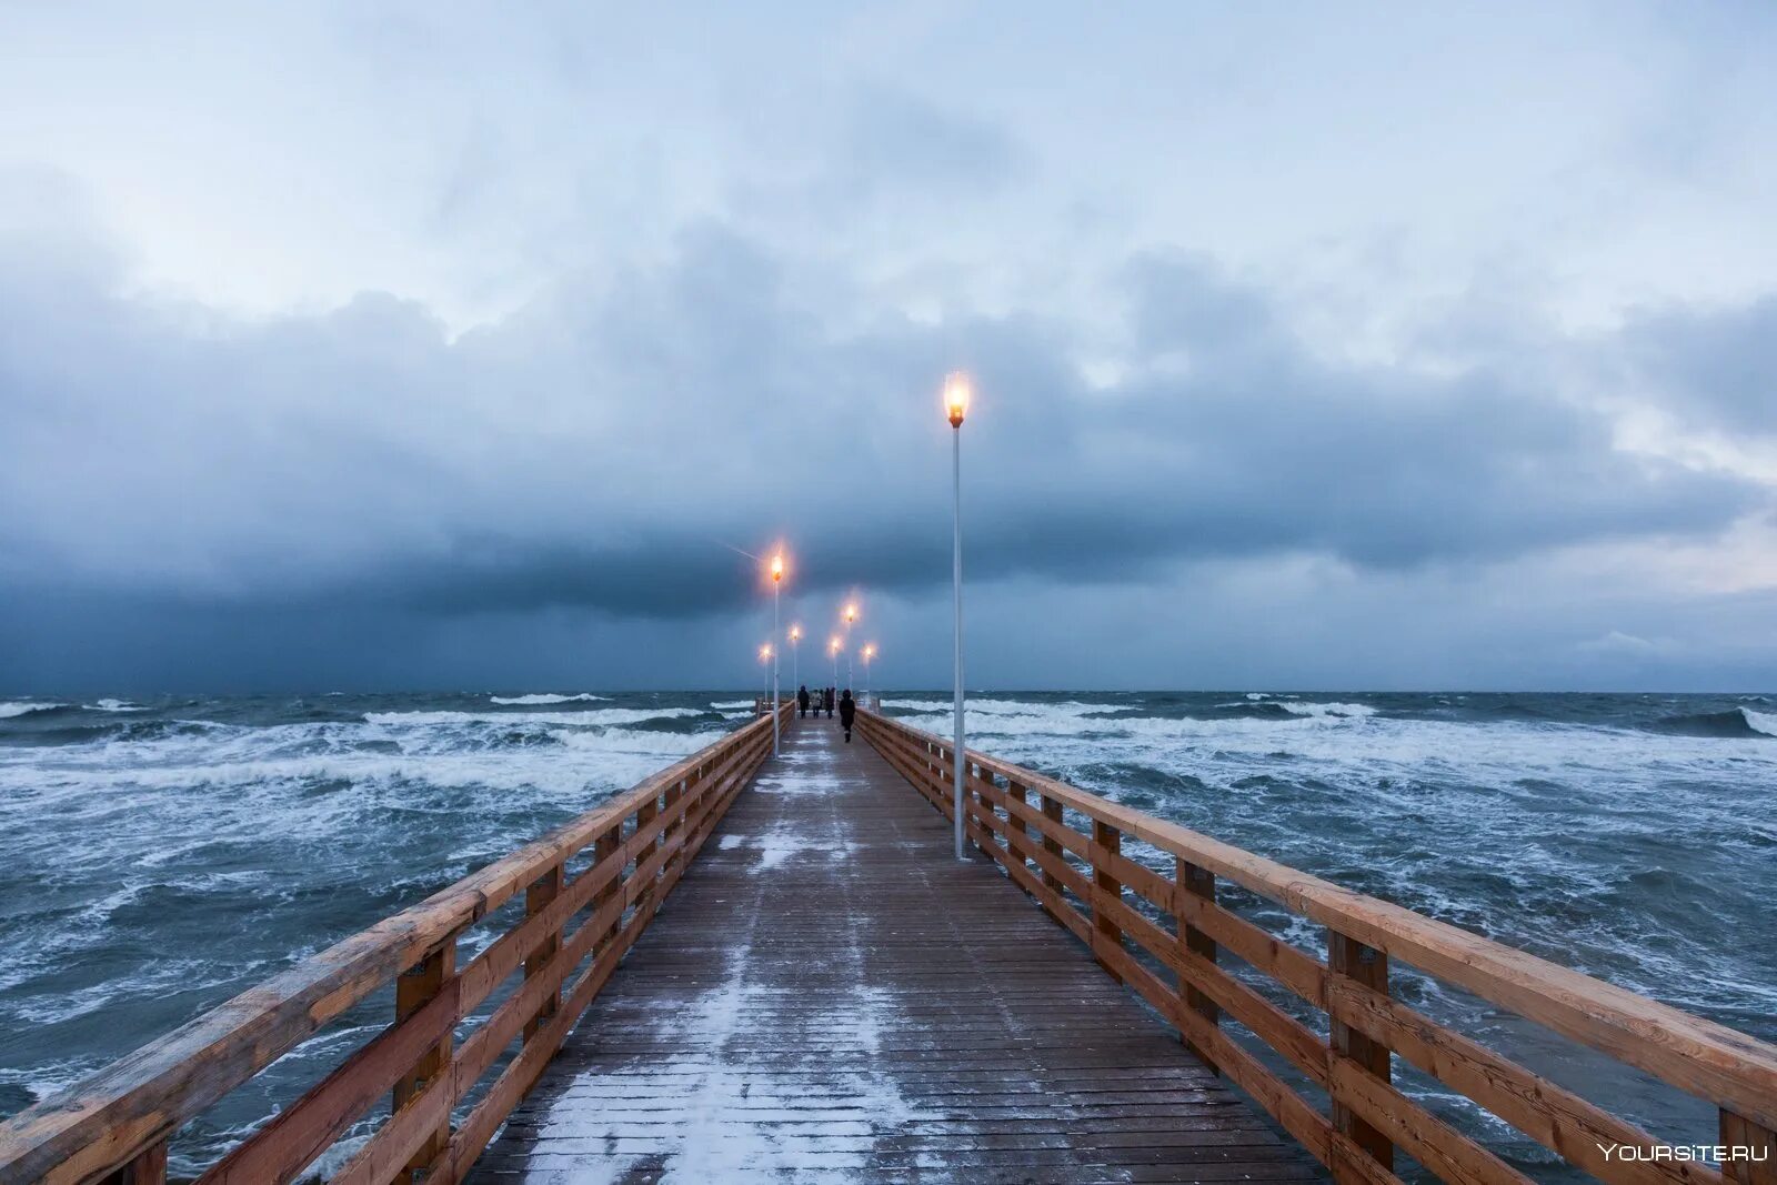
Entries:
<svg viewBox="0 0 1777 1185">
<path fill-rule="evenodd" d="M 199 1181 L 1534 1180 L 1413 1068 L 1603 1181 L 1777 1185 L 1766 1043 L 972 750 L 958 862 L 949 743 L 777 720 L 782 757 L 755 720 L 0 1123 L 0 1185 L 160 1185 L 187 1123 L 371 1006 Z M 1416 1011 L 1391 966 L 1702 1100 L 1725 1155 Z"/>
</svg>

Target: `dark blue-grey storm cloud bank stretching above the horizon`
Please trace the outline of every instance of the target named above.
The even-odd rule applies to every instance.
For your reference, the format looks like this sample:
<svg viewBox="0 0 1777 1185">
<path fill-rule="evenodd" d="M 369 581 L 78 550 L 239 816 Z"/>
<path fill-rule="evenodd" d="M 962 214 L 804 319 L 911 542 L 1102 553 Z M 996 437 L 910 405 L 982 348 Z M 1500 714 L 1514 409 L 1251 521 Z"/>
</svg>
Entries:
<svg viewBox="0 0 1777 1185">
<path fill-rule="evenodd" d="M 727 545 L 784 537 L 803 588 L 919 593 L 949 576 L 935 382 L 958 361 L 981 384 L 965 497 L 983 579 L 1496 560 L 1708 535 L 1768 505 L 1619 451 L 1523 364 L 1320 361 L 1263 291 L 1196 258 L 1128 265 L 1134 352 L 1109 387 L 1082 380 L 1066 325 L 816 307 L 807 291 L 848 284 L 803 268 L 702 227 L 670 266 L 453 341 L 387 297 L 219 322 L 14 252 L 0 563 L 25 586 L 236 608 L 684 618 L 755 595 Z"/>
</svg>

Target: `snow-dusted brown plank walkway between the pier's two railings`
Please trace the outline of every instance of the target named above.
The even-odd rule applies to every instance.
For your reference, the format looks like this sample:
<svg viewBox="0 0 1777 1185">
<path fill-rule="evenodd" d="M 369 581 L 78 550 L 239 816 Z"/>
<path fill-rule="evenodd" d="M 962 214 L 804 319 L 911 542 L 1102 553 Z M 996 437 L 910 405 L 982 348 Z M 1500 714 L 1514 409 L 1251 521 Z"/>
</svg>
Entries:
<svg viewBox="0 0 1777 1185">
<path fill-rule="evenodd" d="M 862 737 L 798 721 L 474 1181 L 1320 1174 Z"/>
</svg>

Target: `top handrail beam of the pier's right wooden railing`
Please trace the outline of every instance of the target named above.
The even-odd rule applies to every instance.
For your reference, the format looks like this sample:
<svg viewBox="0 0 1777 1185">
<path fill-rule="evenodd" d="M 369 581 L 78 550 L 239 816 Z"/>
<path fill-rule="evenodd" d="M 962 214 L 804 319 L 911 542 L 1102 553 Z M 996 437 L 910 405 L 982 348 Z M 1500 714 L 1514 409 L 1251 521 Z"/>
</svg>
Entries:
<svg viewBox="0 0 1777 1185">
<path fill-rule="evenodd" d="M 949 773 L 952 744 L 945 737 L 880 712 L 860 711 L 860 716 L 928 750 L 933 753 L 935 771 L 952 776 Z M 1008 787 L 1018 787 L 1020 794 L 1027 791 L 1072 807 L 1114 828 L 1120 837 L 1144 840 L 1182 862 L 1223 876 L 1329 931 L 1546 1025 L 1766 1132 L 1777 1128 L 1777 1046 L 1773 1045 L 1448 922 L 1342 888 L 1199 831 L 1121 807 L 1034 769 L 967 748 L 965 762 L 979 771 L 979 776 L 970 773 L 967 778 L 972 792 L 1000 796 L 1000 805 L 1008 810 L 1008 830 L 1009 824 L 1020 824 L 1022 830 L 1029 819 L 1024 810 L 1013 812 L 1006 805 L 1004 791 L 990 783 L 995 775 L 1006 778 Z M 942 808 L 947 810 L 949 805 L 944 803 Z M 1096 837 L 1084 847 L 1095 867 L 1128 863 L 1116 847 L 1104 849 Z M 1326 998 L 1313 1002 L 1327 1009 Z"/>
</svg>

